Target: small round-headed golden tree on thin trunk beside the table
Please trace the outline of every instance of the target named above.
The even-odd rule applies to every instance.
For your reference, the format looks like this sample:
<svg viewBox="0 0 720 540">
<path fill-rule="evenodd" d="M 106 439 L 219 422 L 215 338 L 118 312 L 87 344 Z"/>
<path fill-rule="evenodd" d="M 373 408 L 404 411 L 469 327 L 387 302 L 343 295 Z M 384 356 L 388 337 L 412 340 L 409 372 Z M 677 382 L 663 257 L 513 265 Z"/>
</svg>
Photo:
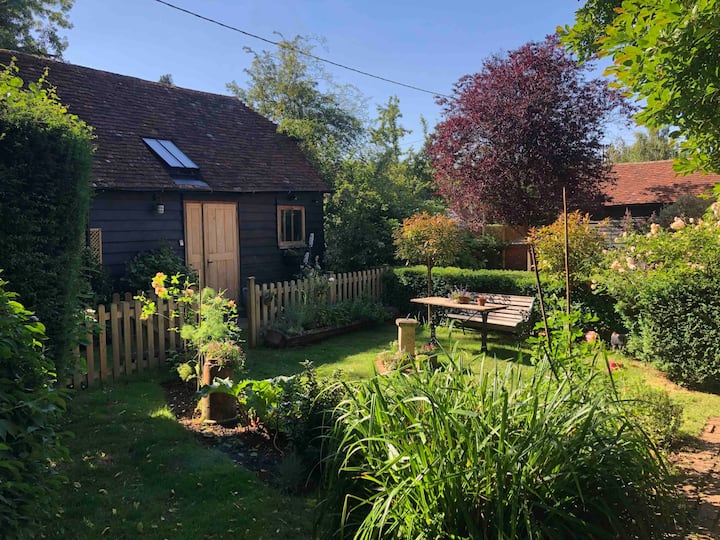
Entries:
<svg viewBox="0 0 720 540">
<path fill-rule="evenodd" d="M 450 264 L 460 251 L 460 229 L 450 218 L 427 212 L 405 219 L 395 231 L 397 256 L 410 264 L 427 267 L 427 295 L 432 296 L 432 269 Z M 428 320 L 431 307 L 428 306 Z"/>
</svg>

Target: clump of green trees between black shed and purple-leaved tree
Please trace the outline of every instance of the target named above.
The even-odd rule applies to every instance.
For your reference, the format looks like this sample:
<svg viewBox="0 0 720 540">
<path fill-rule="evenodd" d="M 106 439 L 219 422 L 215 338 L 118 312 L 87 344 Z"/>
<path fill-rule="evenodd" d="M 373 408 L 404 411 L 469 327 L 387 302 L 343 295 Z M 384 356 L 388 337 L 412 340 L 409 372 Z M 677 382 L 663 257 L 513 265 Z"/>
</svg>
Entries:
<svg viewBox="0 0 720 540">
<path fill-rule="evenodd" d="M 308 56 L 314 46 L 297 36 L 274 51 L 246 49 L 253 55 L 248 84 L 228 87 L 298 139 L 333 188 L 325 202 L 325 263 L 335 271 L 392 263 L 393 229 L 434 203 L 427 158 L 423 151 L 402 150 L 409 131 L 400 123 L 397 97 L 366 122 L 365 99 L 332 82 Z"/>
</svg>

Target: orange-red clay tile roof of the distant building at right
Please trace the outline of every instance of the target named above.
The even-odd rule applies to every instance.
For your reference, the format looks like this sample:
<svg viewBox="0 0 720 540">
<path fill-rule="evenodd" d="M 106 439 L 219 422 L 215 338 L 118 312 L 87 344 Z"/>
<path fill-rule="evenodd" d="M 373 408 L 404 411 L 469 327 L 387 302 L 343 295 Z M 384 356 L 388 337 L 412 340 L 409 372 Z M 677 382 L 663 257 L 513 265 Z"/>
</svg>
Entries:
<svg viewBox="0 0 720 540">
<path fill-rule="evenodd" d="M 672 160 L 616 163 L 612 170 L 617 182 L 607 188 L 606 206 L 673 203 L 681 195 L 707 193 L 720 183 L 718 174 L 676 176 Z"/>
</svg>

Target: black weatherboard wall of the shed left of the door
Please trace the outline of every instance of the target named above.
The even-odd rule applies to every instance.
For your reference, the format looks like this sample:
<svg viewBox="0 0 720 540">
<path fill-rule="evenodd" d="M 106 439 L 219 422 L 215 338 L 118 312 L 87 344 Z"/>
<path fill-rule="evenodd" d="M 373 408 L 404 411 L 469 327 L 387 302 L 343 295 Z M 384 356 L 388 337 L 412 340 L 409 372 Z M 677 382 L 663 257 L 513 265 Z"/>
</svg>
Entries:
<svg viewBox="0 0 720 540">
<path fill-rule="evenodd" d="M 155 213 L 159 202 L 165 205 L 162 215 Z M 180 246 L 183 225 L 179 193 L 96 193 L 90 227 L 102 230 L 103 265 L 114 276 L 125 273 L 125 261 L 141 251 L 160 247 L 162 241 L 185 257 Z"/>
</svg>

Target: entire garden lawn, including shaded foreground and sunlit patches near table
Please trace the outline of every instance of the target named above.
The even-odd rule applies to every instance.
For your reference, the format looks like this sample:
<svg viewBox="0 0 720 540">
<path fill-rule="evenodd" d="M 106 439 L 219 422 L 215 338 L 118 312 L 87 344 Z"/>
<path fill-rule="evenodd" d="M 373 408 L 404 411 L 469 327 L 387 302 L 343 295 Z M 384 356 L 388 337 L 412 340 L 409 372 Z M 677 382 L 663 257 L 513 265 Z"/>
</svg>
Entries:
<svg viewBox="0 0 720 540">
<path fill-rule="evenodd" d="M 427 340 L 421 329 L 418 343 Z M 468 352 L 480 369 L 479 336 L 440 329 L 440 343 Z M 253 349 L 248 376 L 289 375 L 311 360 L 321 375 L 342 370 L 347 379 L 372 376 L 377 353 L 397 338 L 387 324 L 338 336 L 301 349 Z M 457 343 L 457 345 L 455 345 Z M 489 354 L 502 365 L 527 363 L 528 350 L 510 336 L 491 335 Z M 669 383 L 657 370 L 624 359 L 620 386 L 649 384 L 668 390 L 685 406 L 683 431 L 697 435 L 720 396 L 691 392 Z M 494 362 L 486 362 L 492 367 Z M 167 373 L 143 374 L 112 387 L 79 391 L 66 428 L 73 462 L 63 466 L 69 481 L 62 512 L 48 524 L 48 538 L 310 538 L 312 497 L 285 496 L 257 476 L 209 448 L 185 430 L 165 404 Z"/>
</svg>

